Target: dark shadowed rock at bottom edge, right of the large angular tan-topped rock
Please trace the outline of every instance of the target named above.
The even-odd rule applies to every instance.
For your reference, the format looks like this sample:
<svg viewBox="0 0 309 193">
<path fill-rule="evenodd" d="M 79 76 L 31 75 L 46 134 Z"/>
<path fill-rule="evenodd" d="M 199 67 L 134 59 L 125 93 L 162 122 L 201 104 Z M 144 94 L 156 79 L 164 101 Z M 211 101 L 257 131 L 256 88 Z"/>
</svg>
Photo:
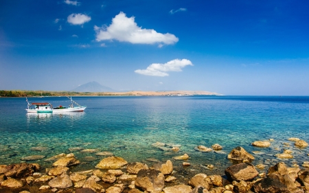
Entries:
<svg viewBox="0 0 309 193">
<path fill-rule="evenodd" d="M 289 190 L 277 179 L 265 178 L 257 181 L 253 185 L 255 192 L 259 193 L 288 193 Z"/>
</svg>

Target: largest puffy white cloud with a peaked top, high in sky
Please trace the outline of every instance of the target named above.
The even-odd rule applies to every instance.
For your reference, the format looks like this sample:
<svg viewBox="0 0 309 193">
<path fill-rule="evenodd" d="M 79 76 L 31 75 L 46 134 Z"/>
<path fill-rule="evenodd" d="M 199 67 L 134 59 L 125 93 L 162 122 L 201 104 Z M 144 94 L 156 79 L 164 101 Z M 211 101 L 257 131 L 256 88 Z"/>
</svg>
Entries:
<svg viewBox="0 0 309 193">
<path fill-rule="evenodd" d="M 174 44 L 178 38 L 174 34 L 161 34 L 155 30 L 142 29 L 135 23 L 134 16 L 126 17 L 124 12 L 117 14 L 108 27 L 94 27 L 96 41 L 117 40 L 141 44 Z"/>
</svg>

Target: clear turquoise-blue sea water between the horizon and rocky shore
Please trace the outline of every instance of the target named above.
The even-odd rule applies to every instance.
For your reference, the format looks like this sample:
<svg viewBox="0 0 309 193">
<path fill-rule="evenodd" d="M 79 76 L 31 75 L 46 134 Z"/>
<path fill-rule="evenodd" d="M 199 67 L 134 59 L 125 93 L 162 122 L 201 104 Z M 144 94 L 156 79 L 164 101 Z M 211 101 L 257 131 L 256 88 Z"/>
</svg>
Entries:
<svg viewBox="0 0 309 193">
<path fill-rule="evenodd" d="M 70 104 L 65 97 L 28 100 L 51 102 L 53 106 Z M 302 167 L 304 161 L 309 161 L 309 148 L 295 148 L 294 142 L 288 141 L 289 137 L 298 137 L 309 142 L 309 97 L 104 96 L 73 100 L 87 109 L 82 113 L 26 113 L 25 98 L 0 98 L 0 164 L 20 163 L 23 157 L 44 155 L 44 159 L 26 162 L 50 168 L 52 162 L 45 159 L 73 152 L 82 164 L 72 170 L 93 169 L 104 156 L 69 148 L 95 148 L 148 166 L 153 160 L 170 159 L 182 175 L 224 174 L 232 164 L 227 155 L 237 146 L 255 157 L 253 165 L 262 163 L 266 168 L 279 161 L 290 167 Z M 251 146 L 253 141 L 268 139 L 274 139 L 269 148 Z M 152 146 L 156 142 L 166 145 Z M 194 149 L 213 144 L 220 144 L 223 149 Z M 170 150 L 172 146 L 180 146 L 179 152 Z M 294 158 L 277 159 L 275 155 L 284 149 L 292 150 Z M 185 153 L 192 166 L 183 169 L 183 161 L 172 157 Z M 209 170 L 208 164 L 214 165 L 214 169 Z"/>
</svg>

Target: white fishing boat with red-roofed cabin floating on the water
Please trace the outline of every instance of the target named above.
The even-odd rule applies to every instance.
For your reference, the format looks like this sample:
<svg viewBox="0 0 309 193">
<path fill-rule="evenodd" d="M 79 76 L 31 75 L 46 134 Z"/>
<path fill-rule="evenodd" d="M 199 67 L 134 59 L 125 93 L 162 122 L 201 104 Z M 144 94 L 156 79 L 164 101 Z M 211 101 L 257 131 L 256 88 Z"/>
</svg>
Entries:
<svg viewBox="0 0 309 193">
<path fill-rule="evenodd" d="M 69 98 L 67 96 L 67 98 Z M 27 98 L 26 101 L 28 103 L 27 106 L 27 113 L 64 113 L 64 112 L 78 112 L 78 111 L 84 111 L 84 109 L 87 108 L 87 106 L 80 106 L 80 104 L 78 104 L 77 102 L 72 100 L 72 97 L 69 98 L 69 100 L 71 100 L 71 104 L 66 107 L 66 106 L 57 106 L 54 107 L 52 106 L 52 104 L 50 104 L 49 102 L 28 102 Z M 76 104 L 77 106 L 73 105 Z M 34 106 L 34 108 L 30 108 L 31 106 Z"/>
</svg>

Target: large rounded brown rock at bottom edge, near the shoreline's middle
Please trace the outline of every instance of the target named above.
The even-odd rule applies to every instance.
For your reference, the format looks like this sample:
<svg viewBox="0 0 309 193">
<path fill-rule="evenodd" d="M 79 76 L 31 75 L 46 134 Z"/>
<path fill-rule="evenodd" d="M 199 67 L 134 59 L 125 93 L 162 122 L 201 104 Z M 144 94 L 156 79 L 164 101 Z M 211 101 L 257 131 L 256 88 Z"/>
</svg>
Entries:
<svg viewBox="0 0 309 193">
<path fill-rule="evenodd" d="M 159 170 L 139 170 L 135 186 L 144 191 L 161 193 L 164 187 L 164 175 Z"/>
</svg>

